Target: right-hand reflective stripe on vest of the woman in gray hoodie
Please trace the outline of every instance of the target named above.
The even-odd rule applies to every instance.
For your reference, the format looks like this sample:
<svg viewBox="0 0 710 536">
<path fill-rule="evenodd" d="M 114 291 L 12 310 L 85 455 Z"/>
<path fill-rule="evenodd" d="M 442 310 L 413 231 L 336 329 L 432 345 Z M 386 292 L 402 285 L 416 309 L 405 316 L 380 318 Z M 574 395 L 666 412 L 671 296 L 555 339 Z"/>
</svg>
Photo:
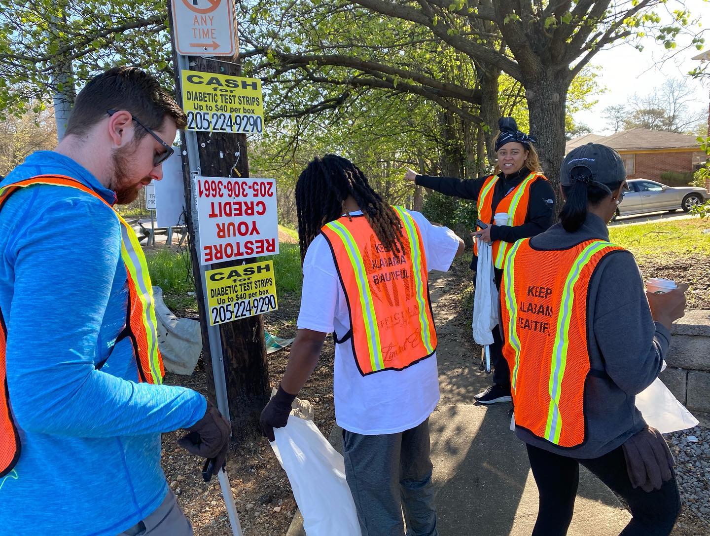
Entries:
<svg viewBox="0 0 710 536">
<path fill-rule="evenodd" d="M 569 322 L 572 319 L 572 303 L 574 302 L 574 284 L 579 279 L 579 274 L 584 266 L 589 262 L 592 255 L 605 247 L 613 246 L 611 242 L 592 242 L 581 251 L 574 261 L 572 271 L 569 272 L 564 281 L 562 292 L 562 303 L 559 305 L 559 317 L 557 318 L 557 334 L 555 335 L 555 345 L 552 351 L 552 364 L 550 367 L 550 406 L 547 409 L 547 426 L 545 427 L 545 439 L 554 444 L 559 444 L 559 434 L 562 432 L 562 419 L 559 413 L 559 397 L 562 394 L 562 378 L 564 369 L 567 367 L 567 348 L 569 343 Z"/>
</svg>

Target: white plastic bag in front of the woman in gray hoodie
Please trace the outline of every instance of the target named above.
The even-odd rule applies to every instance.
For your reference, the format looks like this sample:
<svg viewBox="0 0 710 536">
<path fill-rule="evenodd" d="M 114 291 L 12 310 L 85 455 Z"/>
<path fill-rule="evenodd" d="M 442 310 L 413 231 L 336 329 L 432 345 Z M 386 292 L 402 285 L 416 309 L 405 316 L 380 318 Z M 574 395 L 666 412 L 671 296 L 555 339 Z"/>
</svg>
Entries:
<svg viewBox="0 0 710 536">
<path fill-rule="evenodd" d="M 692 428 L 698 424 L 698 419 L 678 402 L 659 378 L 636 395 L 636 407 L 648 426 L 654 427 L 661 434 Z"/>
</svg>

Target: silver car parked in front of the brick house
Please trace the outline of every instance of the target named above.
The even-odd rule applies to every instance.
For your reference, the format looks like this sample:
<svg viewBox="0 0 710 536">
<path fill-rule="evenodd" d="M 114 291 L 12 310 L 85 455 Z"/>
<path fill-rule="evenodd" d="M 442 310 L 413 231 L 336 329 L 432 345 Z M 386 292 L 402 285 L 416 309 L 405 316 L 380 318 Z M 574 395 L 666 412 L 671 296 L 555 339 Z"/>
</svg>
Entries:
<svg viewBox="0 0 710 536">
<path fill-rule="evenodd" d="M 710 199 L 710 193 L 705 188 L 665 186 L 665 184 L 649 181 L 646 178 L 630 178 L 626 182 L 629 191 L 623 196 L 623 200 L 616 209 L 616 216 L 679 208 L 688 212 L 695 205 Z"/>
</svg>

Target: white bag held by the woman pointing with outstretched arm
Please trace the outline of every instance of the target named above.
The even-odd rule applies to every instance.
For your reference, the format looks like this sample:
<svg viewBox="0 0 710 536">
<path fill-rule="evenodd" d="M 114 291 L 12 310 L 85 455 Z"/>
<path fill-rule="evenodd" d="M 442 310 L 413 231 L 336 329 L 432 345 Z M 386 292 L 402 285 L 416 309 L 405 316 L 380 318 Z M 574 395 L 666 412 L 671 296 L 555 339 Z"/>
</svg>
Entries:
<svg viewBox="0 0 710 536">
<path fill-rule="evenodd" d="M 493 281 L 493 253 L 491 245 L 478 241 L 479 260 L 476 267 L 476 291 L 474 294 L 474 341 L 493 344 L 493 328 L 498 326 L 498 289 Z"/>
</svg>

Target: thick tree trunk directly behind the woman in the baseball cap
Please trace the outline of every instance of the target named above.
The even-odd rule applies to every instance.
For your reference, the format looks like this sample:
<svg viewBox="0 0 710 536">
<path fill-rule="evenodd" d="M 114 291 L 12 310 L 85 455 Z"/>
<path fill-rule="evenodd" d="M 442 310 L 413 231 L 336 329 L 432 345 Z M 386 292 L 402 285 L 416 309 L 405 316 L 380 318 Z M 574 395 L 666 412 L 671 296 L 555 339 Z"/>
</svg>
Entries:
<svg viewBox="0 0 710 536">
<path fill-rule="evenodd" d="M 559 165 L 564 159 L 564 112 L 569 80 L 563 74 L 546 71 L 524 82 L 530 111 L 530 134 L 537 136 L 535 149 L 545 176 L 559 191 Z"/>
</svg>

